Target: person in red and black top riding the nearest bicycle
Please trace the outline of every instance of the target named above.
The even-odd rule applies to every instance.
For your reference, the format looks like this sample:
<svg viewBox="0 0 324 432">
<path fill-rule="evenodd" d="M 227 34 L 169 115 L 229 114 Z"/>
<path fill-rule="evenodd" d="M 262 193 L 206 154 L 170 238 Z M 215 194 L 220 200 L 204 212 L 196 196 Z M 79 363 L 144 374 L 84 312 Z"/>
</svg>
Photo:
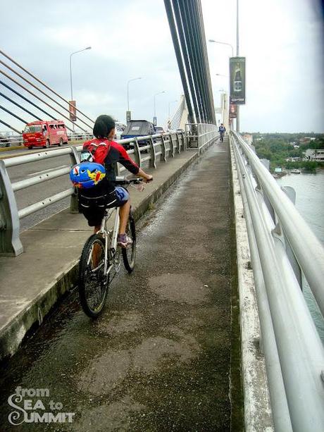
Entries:
<svg viewBox="0 0 324 432">
<path fill-rule="evenodd" d="M 79 210 L 87 218 L 89 226 L 94 226 L 94 233 L 100 230 L 101 220 L 107 207 L 120 207 L 120 228 L 118 245 L 127 246 L 126 225 L 130 214 L 130 196 L 123 187 L 115 186 L 116 163 L 119 162 L 132 174 L 139 175 L 146 182 L 153 180 L 152 175 L 130 159 L 126 150 L 115 137 L 115 121 L 110 116 L 99 116 L 94 123 L 93 140 L 85 142 L 81 153 L 82 161 L 100 163 L 106 170 L 106 176 L 89 189 L 79 189 Z"/>
</svg>

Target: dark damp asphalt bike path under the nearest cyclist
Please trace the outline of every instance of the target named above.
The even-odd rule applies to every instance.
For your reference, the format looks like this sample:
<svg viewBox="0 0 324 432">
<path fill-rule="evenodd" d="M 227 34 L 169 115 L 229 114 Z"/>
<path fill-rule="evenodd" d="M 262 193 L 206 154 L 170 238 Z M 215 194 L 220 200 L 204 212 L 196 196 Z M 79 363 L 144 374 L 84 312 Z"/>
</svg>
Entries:
<svg viewBox="0 0 324 432">
<path fill-rule="evenodd" d="M 140 223 L 135 271 L 113 280 L 99 319 L 72 292 L 4 365 L 4 430 L 17 385 L 47 388 L 46 406 L 75 413 L 45 431 L 230 430 L 227 146 L 211 147 Z"/>
</svg>

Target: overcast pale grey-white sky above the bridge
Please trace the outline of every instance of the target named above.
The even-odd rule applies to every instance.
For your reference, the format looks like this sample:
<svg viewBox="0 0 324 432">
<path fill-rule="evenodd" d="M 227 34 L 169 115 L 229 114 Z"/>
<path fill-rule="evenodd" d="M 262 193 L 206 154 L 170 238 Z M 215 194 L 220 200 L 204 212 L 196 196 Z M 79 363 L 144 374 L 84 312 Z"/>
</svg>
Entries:
<svg viewBox="0 0 324 432">
<path fill-rule="evenodd" d="M 206 39 L 228 42 L 236 51 L 236 0 L 201 0 L 201 4 Z M 156 96 L 158 123 L 163 125 L 168 103 L 182 94 L 163 0 L 11 0 L 2 2 L 1 16 L 6 17 L 1 20 L 1 49 L 66 99 L 70 99 L 70 54 L 92 47 L 73 56 L 73 95 L 77 106 L 92 118 L 109 113 L 125 121 L 127 81 L 139 76 L 142 80 L 130 83 L 132 118 L 151 119 L 153 96 L 164 90 Z M 239 55 L 247 57 L 241 130 L 324 132 L 320 1 L 240 0 L 239 39 Z M 228 90 L 228 78 L 220 75 L 228 75 L 231 50 L 207 44 L 218 106 L 219 90 Z M 2 75 L 1 80 L 12 85 Z M 24 104 L 3 86 L 1 92 Z M 1 105 L 31 120 L 2 97 Z M 176 104 L 170 106 L 172 111 Z M 2 110 L 0 118 L 23 128 Z M 0 130 L 7 128 L 0 125 Z"/>
</svg>

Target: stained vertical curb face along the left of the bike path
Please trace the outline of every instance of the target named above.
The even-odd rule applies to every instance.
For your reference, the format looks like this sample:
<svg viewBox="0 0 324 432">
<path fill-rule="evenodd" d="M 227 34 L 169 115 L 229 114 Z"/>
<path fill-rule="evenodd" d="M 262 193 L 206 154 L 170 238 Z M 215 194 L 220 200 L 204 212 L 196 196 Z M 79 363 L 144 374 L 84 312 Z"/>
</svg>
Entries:
<svg viewBox="0 0 324 432">
<path fill-rule="evenodd" d="M 201 154 L 202 152 L 194 153 L 175 173 L 159 185 L 151 195 L 143 199 L 134 208 L 135 219 L 139 220 L 147 209 L 149 209 L 150 205 L 156 202 Z M 54 307 L 54 304 L 56 304 L 60 297 L 77 284 L 78 264 L 79 259 L 68 264 L 61 273 L 56 274 L 52 283 L 48 284 L 32 301 L 28 302 L 25 308 L 13 317 L 12 321 L 4 326 L 4 328 L 1 328 L 0 360 L 13 355 L 18 350 L 27 332 L 42 324 L 44 317 Z"/>
</svg>

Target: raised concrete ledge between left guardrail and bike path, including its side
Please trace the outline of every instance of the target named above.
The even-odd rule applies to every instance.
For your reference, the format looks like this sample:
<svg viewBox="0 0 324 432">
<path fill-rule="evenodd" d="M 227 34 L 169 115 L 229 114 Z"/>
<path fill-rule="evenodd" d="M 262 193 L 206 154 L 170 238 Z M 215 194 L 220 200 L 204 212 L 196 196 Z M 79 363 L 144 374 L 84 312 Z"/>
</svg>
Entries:
<svg viewBox="0 0 324 432">
<path fill-rule="evenodd" d="M 154 182 L 142 193 L 130 189 L 135 216 L 144 214 L 194 159 L 195 152 L 182 152 L 147 170 Z M 81 214 L 61 211 L 21 234 L 22 255 L 0 257 L 0 360 L 13 354 L 27 331 L 77 283 L 77 264 L 90 233 Z"/>
</svg>

